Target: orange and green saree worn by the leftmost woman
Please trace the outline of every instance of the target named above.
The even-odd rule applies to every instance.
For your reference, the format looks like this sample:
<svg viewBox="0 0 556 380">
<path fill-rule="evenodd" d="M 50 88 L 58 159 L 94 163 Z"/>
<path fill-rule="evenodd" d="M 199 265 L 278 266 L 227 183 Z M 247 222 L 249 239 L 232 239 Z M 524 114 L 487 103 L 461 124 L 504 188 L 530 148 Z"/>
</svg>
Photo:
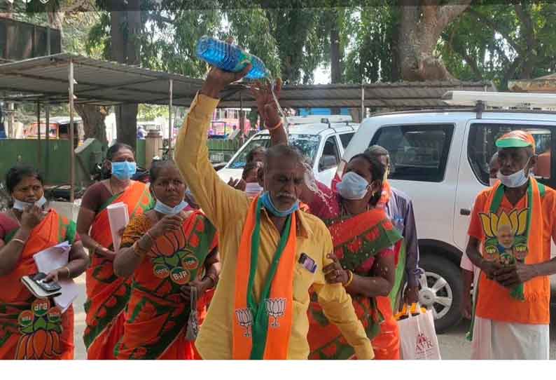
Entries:
<svg viewBox="0 0 556 380">
<path fill-rule="evenodd" d="M 33 297 L 21 278 L 38 271 L 33 255 L 64 241 L 73 244 L 75 238 L 74 222 L 50 210 L 31 232 L 17 268 L 0 276 L 0 359 L 74 358 L 73 308 L 62 314 L 53 301 Z"/>
</svg>

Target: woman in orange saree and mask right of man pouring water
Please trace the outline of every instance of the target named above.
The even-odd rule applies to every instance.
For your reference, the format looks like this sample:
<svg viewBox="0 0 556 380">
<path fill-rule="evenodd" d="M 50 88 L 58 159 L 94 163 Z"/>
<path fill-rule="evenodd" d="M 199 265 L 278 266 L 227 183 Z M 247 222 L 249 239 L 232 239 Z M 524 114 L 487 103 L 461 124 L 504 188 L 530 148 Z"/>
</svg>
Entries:
<svg viewBox="0 0 556 380">
<path fill-rule="evenodd" d="M 337 185 L 339 194 L 318 184 L 319 191 L 312 193 L 309 205 L 314 215 L 324 219 L 334 243 L 335 263 L 324 269 L 326 280 L 342 283 L 352 296 L 375 359 L 399 359 L 399 330 L 391 306 L 397 294 L 391 291 L 396 274 L 403 273 L 395 269 L 403 240 L 384 210 L 375 208 L 383 175 L 384 167 L 376 158 L 356 155 Z M 352 347 L 316 301 L 311 302 L 309 320 L 310 359 L 354 357 Z"/>
</svg>

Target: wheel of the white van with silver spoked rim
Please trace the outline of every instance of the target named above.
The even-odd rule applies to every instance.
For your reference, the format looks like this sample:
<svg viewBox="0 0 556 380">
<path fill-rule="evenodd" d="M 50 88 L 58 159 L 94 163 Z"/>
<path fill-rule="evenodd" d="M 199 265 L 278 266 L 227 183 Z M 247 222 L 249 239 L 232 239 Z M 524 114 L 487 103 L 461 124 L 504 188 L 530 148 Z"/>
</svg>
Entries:
<svg viewBox="0 0 556 380">
<path fill-rule="evenodd" d="M 436 255 L 422 257 L 419 266 L 425 271 L 419 279 L 419 303 L 433 312 L 436 332 L 445 332 L 461 320 L 461 273 L 452 262 Z"/>
</svg>

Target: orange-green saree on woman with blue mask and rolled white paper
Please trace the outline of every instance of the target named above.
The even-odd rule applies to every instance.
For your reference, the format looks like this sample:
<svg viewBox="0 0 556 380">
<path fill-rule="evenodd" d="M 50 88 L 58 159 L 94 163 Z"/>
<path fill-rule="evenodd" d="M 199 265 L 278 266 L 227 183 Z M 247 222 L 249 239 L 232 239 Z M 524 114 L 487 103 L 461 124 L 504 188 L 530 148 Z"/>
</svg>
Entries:
<svg viewBox="0 0 556 380">
<path fill-rule="evenodd" d="M 127 205 L 128 214 L 132 219 L 148 210 L 152 200 L 146 184 L 132 182 L 123 193 L 116 194 L 106 201 L 95 217 L 90 236 L 109 250 L 113 249 L 113 241 L 106 208 L 118 202 Z M 118 278 L 109 259 L 95 253 L 90 260 L 91 264 L 86 272 L 87 327 L 83 334 L 87 358 L 114 359 L 113 348 L 123 334 L 124 311 L 130 298 L 130 280 Z"/>
</svg>

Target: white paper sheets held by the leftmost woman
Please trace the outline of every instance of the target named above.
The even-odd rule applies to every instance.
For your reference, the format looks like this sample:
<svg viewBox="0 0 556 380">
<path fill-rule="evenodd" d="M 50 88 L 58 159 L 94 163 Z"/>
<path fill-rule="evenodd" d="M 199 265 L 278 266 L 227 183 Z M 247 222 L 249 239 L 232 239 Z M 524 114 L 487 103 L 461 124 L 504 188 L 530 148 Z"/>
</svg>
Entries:
<svg viewBox="0 0 556 380">
<path fill-rule="evenodd" d="M 39 271 L 43 273 L 48 273 L 54 271 L 55 269 L 62 268 L 62 266 L 67 265 L 69 260 L 69 250 L 71 250 L 71 245 L 67 241 L 43 250 L 39 253 L 33 255 L 36 266 Z M 59 280 L 58 283 L 62 289 L 58 297 L 54 298 L 54 303 L 62 309 L 64 313 L 67 308 L 74 302 L 79 294 L 79 287 L 74 283 L 73 279 L 69 280 Z"/>
</svg>

